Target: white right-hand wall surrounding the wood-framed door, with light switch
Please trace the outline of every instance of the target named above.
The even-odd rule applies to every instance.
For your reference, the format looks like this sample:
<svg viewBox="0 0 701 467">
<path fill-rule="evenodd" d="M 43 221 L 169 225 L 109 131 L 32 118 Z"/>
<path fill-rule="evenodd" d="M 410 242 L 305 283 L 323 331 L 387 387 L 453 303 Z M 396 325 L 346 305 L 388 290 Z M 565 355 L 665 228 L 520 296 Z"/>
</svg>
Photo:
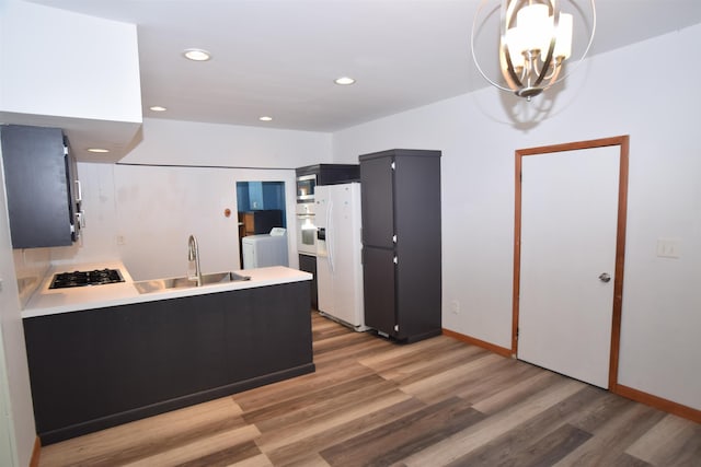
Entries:
<svg viewBox="0 0 701 467">
<path fill-rule="evenodd" d="M 444 327 L 509 348 L 514 151 L 630 135 L 619 383 L 701 409 L 699 43 L 701 25 L 594 57 L 530 104 L 490 87 L 349 128 L 334 162 L 443 151 Z M 651 57 L 674 63 L 668 79 Z M 679 259 L 656 257 L 660 237 L 680 240 Z"/>
</svg>

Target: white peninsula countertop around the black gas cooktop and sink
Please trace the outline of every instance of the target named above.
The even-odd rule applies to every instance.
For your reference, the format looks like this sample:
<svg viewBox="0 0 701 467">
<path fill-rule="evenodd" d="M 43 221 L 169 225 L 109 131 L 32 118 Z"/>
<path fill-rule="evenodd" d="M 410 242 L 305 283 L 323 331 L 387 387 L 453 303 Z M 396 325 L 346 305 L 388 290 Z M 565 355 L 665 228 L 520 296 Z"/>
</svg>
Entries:
<svg viewBox="0 0 701 467">
<path fill-rule="evenodd" d="M 93 269 L 119 269 L 124 282 L 74 287 L 68 289 L 49 289 L 49 284 L 54 275 L 57 272 L 66 272 L 73 270 L 93 270 Z M 204 271 L 217 272 L 217 271 Z M 36 316 L 47 316 L 58 313 L 78 312 L 82 310 L 104 308 L 107 306 L 126 305 L 129 303 L 152 302 L 158 300 L 176 299 L 181 296 L 202 295 L 206 293 L 225 292 L 229 290 L 252 289 L 265 285 L 276 285 L 289 282 L 299 282 L 311 280 L 309 272 L 284 266 L 272 266 L 268 268 L 245 269 L 234 271 L 242 276 L 249 276 L 251 280 L 234 281 L 207 284 L 202 287 L 193 287 L 187 289 L 170 289 L 160 292 L 139 293 L 134 287 L 131 276 L 118 261 L 105 261 L 99 265 L 77 265 L 77 266 L 58 266 L 51 268 L 42 284 L 27 302 L 22 312 L 23 318 Z M 157 278 L 161 279 L 161 278 Z"/>
</svg>

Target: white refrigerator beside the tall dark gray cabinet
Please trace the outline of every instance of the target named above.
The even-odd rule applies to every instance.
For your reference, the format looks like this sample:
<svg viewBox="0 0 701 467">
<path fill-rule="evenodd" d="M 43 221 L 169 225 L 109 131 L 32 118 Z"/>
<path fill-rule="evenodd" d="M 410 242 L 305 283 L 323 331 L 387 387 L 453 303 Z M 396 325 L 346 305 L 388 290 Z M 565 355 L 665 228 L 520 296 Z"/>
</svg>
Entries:
<svg viewBox="0 0 701 467">
<path fill-rule="evenodd" d="M 357 331 L 367 330 L 363 307 L 360 184 L 317 186 L 319 312 Z"/>
</svg>

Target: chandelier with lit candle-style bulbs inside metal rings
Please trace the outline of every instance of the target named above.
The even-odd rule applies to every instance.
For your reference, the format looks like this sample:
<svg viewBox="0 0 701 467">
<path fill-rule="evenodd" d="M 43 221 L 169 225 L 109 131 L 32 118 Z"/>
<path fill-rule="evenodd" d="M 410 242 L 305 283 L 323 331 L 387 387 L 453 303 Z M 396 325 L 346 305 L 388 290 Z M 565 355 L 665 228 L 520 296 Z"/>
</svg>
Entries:
<svg viewBox="0 0 701 467">
<path fill-rule="evenodd" d="M 562 81 L 565 60 L 572 56 L 574 17 L 560 10 L 559 0 L 502 0 L 498 62 L 506 85 L 489 78 L 474 54 L 474 38 L 481 12 L 490 0 L 482 0 L 472 24 L 470 46 L 478 70 L 492 85 L 519 97 L 539 95 Z M 591 9 L 591 30 L 581 62 L 589 51 L 596 28 L 596 9 Z M 577 63 L 578 63 L 577 62 Z"/>
</svg>

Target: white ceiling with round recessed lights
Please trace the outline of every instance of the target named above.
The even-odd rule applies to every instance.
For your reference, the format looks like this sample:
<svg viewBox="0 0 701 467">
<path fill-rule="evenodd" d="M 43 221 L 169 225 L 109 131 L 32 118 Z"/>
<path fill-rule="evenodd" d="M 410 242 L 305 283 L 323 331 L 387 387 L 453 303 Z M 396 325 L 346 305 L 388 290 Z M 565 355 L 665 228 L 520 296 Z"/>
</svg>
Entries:
<svg viewBox="0 0 701 467">
<path fill-rule="evenodd" d="M 334 131 L 486 85 L 470 56 L 479 0 L 32 1 L 137 25 L 145 117 Z M 590 54 L 701 22 L 699 0 L 596 9 Z M 183 59 L 191 47 L 214 58 Z M 651 57 L 637 72 L 658 67 L 674 63 Z M 341 75 L 357 82 L 338 86 Z"/>
</svg>

